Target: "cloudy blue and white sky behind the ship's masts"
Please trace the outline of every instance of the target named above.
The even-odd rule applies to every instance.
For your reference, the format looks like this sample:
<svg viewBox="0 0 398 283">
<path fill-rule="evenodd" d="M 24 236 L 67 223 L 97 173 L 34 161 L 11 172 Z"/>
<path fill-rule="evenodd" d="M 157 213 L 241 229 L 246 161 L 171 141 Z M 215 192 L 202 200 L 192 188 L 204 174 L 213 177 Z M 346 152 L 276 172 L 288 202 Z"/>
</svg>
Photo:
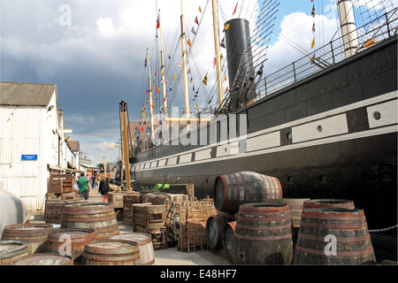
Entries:
<svg viewBox="0 0 398 283">
<path fill-rule="evenodd" d="M 191 38 L 192 27 L 198 27 L 195 17 L 201 19 L 203 14 L 192 48 L 192 62 L 195 60 L 202 76 L 209 73 L 207 89 L 211 93 L 215 81 L 211 68 L 215 54 L 211 1 L 203 13 L 198 9 L 201 6 L 204 10 L 207 2 L 183 0 L 183 12 L 184 27 Z M 323 33 L 317 40 L 321 44 L 329 42 L 336 33 L 337 11 L 331 9 L 332 0 L 315 2 L 322 11 L 316 16 L 317 22 L 322 23 L 319 29 Z M 220 26 L 238 17 L 248 19 L 250 27 L 254 26 L 256 0 L 224 0 L 219 5 Z M 115 147 L 120 137 L 119 103 L 126 101 L 130 121 L 142 116 L 142 103 L 149 88 L 144 65 L 147 49 L 151 73 L 160 73 L 156 37 L 159 10 L 165 57 L 180 50 L 180 0 L 1 0 L 0 8 L 0 79 L 57 84 L 58 107 L 64 111 L 65 128 L 73 129 L 71 139 L 80 142 L 80 149 L 93 158 L 92 164 L 102 163 L 103 157 L 115 162 L 119 157 Z M 310 51 L 311 10 L 310 0 L 281 1 L 265 73 L 303 56 L 287 44 L 286 38 Z M 170 78 L 176 66 L 169 68 L 166 72 Z M 202 79 L 196 76 L 198 86 Z M 178 101 L 184 105 L 182 98 Z M 204 97 L 197 102 L 200 107 L 205 103 Z M 191 101 L 190 107 L 195 108 L 195 103 Z"/>
</svg>

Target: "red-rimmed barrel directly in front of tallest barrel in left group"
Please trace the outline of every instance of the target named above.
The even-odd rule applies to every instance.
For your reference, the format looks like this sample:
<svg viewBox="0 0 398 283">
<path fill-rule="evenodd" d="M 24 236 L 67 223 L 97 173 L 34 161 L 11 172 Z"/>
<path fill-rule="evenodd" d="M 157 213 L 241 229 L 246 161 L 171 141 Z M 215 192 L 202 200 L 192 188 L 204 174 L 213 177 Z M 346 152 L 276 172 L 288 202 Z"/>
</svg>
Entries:
<svg viewBox="0 0 398 283">
<path fill-rule="evenodd" d="M 71 256 L 76 260 L 84 251 L 88 241 L 96 240 L 94 229 L 63 228 L 49 233 L 47 251 L 61 256 Z"/>
</svg>

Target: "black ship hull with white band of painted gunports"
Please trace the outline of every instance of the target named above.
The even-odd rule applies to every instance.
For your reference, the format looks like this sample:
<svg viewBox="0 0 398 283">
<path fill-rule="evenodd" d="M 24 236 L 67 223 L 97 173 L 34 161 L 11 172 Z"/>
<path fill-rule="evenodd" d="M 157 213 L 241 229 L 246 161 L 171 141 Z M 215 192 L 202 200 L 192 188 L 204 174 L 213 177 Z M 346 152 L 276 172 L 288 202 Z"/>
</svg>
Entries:
<svg viewBox="0 0 398 283">
<path fill-rule="evenodd" d="M 219 175 L 260 172 L 279 179 L 283 197 L 350 199 L 370 229 L 396 225 L 396 42 L 389 38 L 237 112 L 247 117 L 244 137 L 138 154 L 134 180 L 153 186 L 180 178 L 201 198 L 213 196 Z M 241 142 L 245 152 L 234 153 Z"/>
</svg>

